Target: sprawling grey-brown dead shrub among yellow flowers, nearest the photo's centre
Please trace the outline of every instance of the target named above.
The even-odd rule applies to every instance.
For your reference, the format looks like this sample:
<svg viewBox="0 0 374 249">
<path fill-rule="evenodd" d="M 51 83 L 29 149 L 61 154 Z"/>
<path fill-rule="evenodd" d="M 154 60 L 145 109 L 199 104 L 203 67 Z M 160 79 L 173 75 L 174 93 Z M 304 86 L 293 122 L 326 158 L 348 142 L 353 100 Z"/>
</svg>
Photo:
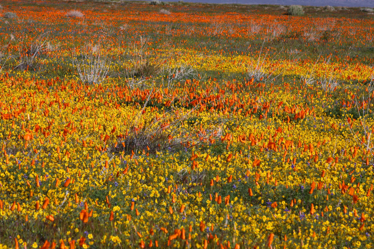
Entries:
<svg viewBox="0 0 374 249">
<path fill-rule="evenodd" d="M 135 90 L 134 90 L 135 91 Z M 131 152 L 136 155 L 137 152 L 156 153 L 168 150 L 169 152 L 190 148 L 200 143 L 211 143 L 221 135 L 223 124 L 213 125 L 211 130 L 198 130 L 197 127 L 187 129 L 185 122 L 195 115 L 195 111 L 200 107 L 198 103 L 194 108 L 180 111 L 172 106 L 169 111 L 162 114 L 155 114 L 151 118 L 144 115 L 147 111 L 148 102 L 159 94 L 158 91 L 144 90 L 148 97 L 142 108 L 133 112 L 129 118 L 129 124 L 125 134 L 117 139 L 116 147 L 110 152 Z"/>
</svg>

